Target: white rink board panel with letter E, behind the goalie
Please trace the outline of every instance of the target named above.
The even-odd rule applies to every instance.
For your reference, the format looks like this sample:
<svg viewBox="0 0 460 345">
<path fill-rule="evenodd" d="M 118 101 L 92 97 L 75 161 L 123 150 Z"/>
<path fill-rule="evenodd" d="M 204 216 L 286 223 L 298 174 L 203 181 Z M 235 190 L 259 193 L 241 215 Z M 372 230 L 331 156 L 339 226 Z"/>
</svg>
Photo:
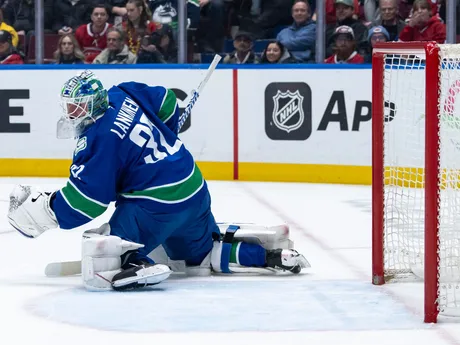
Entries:
<svg viewBox="0 0 460 345">
<path fill-rule="evenodd" d="M 8 145 L 0 145 L 1 158 L 70 159 L 75 140 L 56 138 L 62 110 L 59 92 L 76 69 L 2 70 L 0 78 L 0 133 Z M 174 91 L 185 108 L 191 90 L 203 78 L 200 69 L 94 69 L 106 88 L 126 81 Z M 233 159 L 232 71 L 216 70 L 180 138 L 197 161 L 231 162 Z"/>
</svg>

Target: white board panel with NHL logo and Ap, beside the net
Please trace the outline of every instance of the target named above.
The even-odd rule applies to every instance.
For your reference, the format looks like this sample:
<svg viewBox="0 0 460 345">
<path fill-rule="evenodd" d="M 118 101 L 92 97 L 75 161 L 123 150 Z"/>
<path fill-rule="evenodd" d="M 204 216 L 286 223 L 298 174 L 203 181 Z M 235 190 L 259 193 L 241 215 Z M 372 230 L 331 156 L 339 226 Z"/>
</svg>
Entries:
<svg viewBox="0 0 460 345">
<path fill-rule="evenodd" d="M 240 162 L 370 165 L 370 69 L 243 69 L 238 81 Z"/>
</svg>

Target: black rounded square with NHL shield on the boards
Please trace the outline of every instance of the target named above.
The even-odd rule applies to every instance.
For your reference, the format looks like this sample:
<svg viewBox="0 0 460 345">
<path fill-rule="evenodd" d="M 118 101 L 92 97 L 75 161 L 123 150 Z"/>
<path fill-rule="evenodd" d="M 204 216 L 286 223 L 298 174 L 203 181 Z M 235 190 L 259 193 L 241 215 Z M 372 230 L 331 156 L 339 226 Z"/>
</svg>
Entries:
<svg viewBox="0 0 460 345">
<path fill-rule="evenodd" d="M 311 135 L 311 89 L 306 83 L 271 83 L 265 89 L 265 132 L 273 140 Z"/>
</svg>

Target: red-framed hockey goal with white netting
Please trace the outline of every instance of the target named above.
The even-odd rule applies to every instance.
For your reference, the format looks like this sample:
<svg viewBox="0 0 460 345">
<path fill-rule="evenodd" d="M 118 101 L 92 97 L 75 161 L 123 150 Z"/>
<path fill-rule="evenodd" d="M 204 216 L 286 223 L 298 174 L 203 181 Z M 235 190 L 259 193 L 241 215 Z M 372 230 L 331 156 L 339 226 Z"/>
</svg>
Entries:
<svg viewBox="0 0 460 345">
<path fill-rule="evenodd" d="M 424 280 L 425 322 L 460 316 L 460 47 L 373 51 L 373 283 Z"/>
</svg>

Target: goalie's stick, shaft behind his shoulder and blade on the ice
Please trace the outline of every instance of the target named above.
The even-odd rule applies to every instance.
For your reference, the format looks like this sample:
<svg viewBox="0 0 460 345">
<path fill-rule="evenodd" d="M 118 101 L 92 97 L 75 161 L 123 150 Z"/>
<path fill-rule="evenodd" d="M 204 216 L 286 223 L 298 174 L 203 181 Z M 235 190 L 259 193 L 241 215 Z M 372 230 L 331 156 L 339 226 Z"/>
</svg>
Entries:
<svg viewBox="0 0 460 345">
<path fill-rule="evenodd" d="M 214 56 L 211 64 L 209 65 L 204 79 L 198 85 L 196 90 L 192 90 L 192 95 L 190 101 L 188 102 L 187 106 L 184 109 L 181 117 L 179 118 L 178 123 L 178 131 L 182 128 L 187 118 L 190 116 L 192 112 L 192 108 L 195 105 L 198 97 L 200 96 L 201 92 L 203 91 L 206 83 L 208 82 L 209 78 L 211 78 L 212 73 L 217 67 L 217 64 L 222 59 L 222 57 L 218 54 Z M 61 277 L 61 276 L 69 276 L 69 275 L 76 275 L 81 273 L 81 261 L 63 261 L 63 262 L 51 262 L 45 267 L 45 275 L 47 277 Z"/>
</svg>

